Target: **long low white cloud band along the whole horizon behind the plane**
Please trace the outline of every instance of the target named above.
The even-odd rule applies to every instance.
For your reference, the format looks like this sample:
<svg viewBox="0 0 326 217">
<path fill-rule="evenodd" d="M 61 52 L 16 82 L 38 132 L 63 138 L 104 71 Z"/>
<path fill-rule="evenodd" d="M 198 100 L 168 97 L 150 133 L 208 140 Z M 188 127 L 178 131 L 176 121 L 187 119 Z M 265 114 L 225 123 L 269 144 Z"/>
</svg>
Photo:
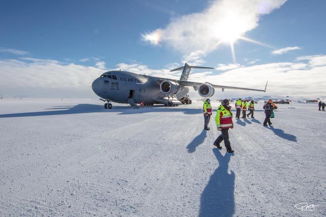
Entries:
<svg viewBox="0 0 326 217">
<path fill-rule="evenodd" d="M 325 96 L 326 89 L 321 87 L 326 83 L 326 55 L 304 56 L 296 59 L 296 61 L 305 60 L 307 63 L 275 62 L 249 67 L 239 64 L 219 64 L 220 69 L 225 69 L 228 66 L 229 69 L 221 73 L 217 73 L 213 69 L 211 71 L 193 69 L 189 81 L 208 81 L 217 85 L 263 89 L 266 80 L 269 80 L 267 93 L 225 90 L 223 94 L 230 94 L 230 97 L 245 94 L 292 95 L 308 98 Z M 99 64 L 99 66 L 103 65 Z M 172 66 L 179 67 L 180 65 L 174 63 L 169 67 L 151 69 L 139 62 L 118 63 L 116 68 L 107 70 L 121 69 L 139 74 L 179 79 L 181 71 L 170 72 Z M 91 84 L 103 72 L 105 71 L 98 67 L 67 64 L 56 60 L 33 58 L 0 60 L 0 93 L 5 95 L 28 94 L 25 90 L 29 88 L 29 90 L 35 91 L 32 96 L 38 96 L 37 94 L 47 96 L 60 89 L 66 97 L 92 96 L 94 94 Z M 214 97 L 218 98 L 221 94 L 217 89 Z"/>
</svg>

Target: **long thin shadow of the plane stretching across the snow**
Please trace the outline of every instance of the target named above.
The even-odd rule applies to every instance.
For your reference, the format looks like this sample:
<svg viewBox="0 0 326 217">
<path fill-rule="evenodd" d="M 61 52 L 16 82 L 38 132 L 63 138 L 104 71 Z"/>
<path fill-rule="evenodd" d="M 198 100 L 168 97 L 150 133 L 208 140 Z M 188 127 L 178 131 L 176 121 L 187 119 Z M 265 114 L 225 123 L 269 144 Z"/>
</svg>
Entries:
<svg viewBox="0 0 326 217">
<path fill-rule="evenodd" d="M 59 107 L 59 106 L 53 106 Z M 61 106 L 60 106 L 61 107 Z M 66 109 L 66 110 L 58 110 Z M 151 106 L 151 107 L 141 107 L 139 109 L 132 109 L 128 106 L 114 106 L 112 109 L 104 109 L 102 105 L 92 105 L 92 104 L 78 104 L 72 107 L 61 107 L 61 108 L 48 108 L 51 111 L 42 112 L 26 112 L 26 113 L 13 113 L 13 114 L 3 114 L 0 118 L 12 118 L 12 117 L 34 117 L 34 116 L 47 116 L 47 115 L 69 115 L 69 114 L 82 114 L 82 113 L 108 113 L 108 112 L 120 112 L 119 115 L 128 114 L 139 114 L 147 112 L 183 112 L 184 114 L 200 114 L 202 109 L 194 108 L 171 108 L 165 106 Z"/>
</svg>

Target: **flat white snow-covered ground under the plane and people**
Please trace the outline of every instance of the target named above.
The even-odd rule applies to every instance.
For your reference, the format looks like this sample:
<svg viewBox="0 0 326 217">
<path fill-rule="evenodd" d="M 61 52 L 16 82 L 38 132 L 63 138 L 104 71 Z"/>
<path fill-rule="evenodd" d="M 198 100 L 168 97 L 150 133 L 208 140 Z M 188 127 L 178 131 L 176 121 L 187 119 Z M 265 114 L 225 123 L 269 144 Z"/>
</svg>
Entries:
<svg viewBox="0 0 326 217">
<path fill-rule="evenodd" d="M 326 112 L 278 105 L 235 120 L 235 155 L 203 131 L 202 104 L 0 99 L 0 216 L 326 215 Z M 301 211 L 298 203 L 314 204 Z"/>
</svg>

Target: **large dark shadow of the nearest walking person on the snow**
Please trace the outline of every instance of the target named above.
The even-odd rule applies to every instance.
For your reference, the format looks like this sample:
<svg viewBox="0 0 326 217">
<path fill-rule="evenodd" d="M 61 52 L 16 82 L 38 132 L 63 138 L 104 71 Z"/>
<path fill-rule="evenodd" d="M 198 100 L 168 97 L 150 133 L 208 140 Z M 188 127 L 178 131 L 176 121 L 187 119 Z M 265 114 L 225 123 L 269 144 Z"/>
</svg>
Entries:
<svg viewBox="0 0 326 217">
<path fill-rule="evenodd" d="M 213 149 L 218 167 L 211 176 L 200 198 L 199 217 L 231 217 L 234 214 L 234 172 L 229 174 L 228 163 L 231 154 L 223 156 Z"/>
</svg>

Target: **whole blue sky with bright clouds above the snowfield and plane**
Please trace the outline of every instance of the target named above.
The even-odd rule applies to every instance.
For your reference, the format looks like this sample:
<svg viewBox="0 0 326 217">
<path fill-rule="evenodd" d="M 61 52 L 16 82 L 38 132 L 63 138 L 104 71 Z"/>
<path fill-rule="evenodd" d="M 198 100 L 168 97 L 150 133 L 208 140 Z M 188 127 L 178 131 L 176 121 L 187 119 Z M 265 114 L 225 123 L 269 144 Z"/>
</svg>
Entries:
<svg viewBox="0 0 326 217">
<path fill-rule="evenodd" d="M 33 80 L 33 76 L 38 77 L 37 73 L 49 71 L 53 77 L 71 80 L 59 85 L 59 81 L 54 81 L 53 77 L 42 75 L 34 79 L 33 85 L 22 82 L 20 88 L 16 88 L 14 82 L 8 83 L 4 79 L 0 94 L 19 94 L 19 90 L 25 90 L 28 95 L 37 96 L 37 90 L 41 89 L 42 96 L 47 96 L 47 93 L 54 96 L 54 90 L 60 89 L 59 93 L 66 97 L 90 96 L 93 93 L 88 94 L 88 88 L 92 79 L 105 70 L 122 68 L 136 73 L 178 78 L 178 74 L 171 74 L 168 69 L 182 62 L 216 67 L 213 71 L 195 71 L 190 78 L 203 82 L 209 78 L 222 85 L 261 86 L 268 75 L 279 76 L 270 74 L 272 71 L 288 73 L 288 77 L 280 76 L 280 79 L 293 79 L 294 84 L 300 79 L 306 80 L 305 77 L 296 77 L 291 70 L 302 70 L 306 74 L 311 73 L 311 76 L 317 74 L 317 78 L 323 80 L 321 71 L 326 65 L 326 16 L 323 14 L 326 1 L 257 0 L 231 5 L 225 2 L 2 1 L 0 75 L 2 73 L 2 77 L 19 80 L 12 75 L 22 73 L 17 70 L 26 68 L 29 74 L 26 79 Z M 231 21 L 225 11 L 234 11 Z M 235 37 L 230 41 L 234 46 L 234 56 L 229 41 L 225 41 L 226 31 L 227 37 Z M 153 36 L 157 38 L 152 40 Z M 217 46 L 218 41 L 222 42 Z M 258 78 L 259 73 L 264 73 L 263 69 L 266 69 L 266 74 Z M 258 70 L 257 74 L 252 74 L 253 78 L 257 78 L 254 79 L 257 83 L 251 83 L 251 71 Z M 67 78 L 67 73 L 84 76 L 88 80 L 75 81 L 73 76 Z M 234 74 L 243 73 L 247 73 L 249 79 L 234 80 L 237 78 Z M 311 80 L 308 85 L 325 84 L 325 80 L 321 83 L 321 79 L 318 79 L 320 83 Z M 287 92 L 306 97 L 326 95 L 325 91 L 318 89 L 299 94 L 293 88 L 294 84 L 290 84 L 288 89 L 282 86 L 282 90 L 276 91 L 280 89 L 276 83 L 277 79 L 274 85 L 271 82 L 270 94 Z M 67 90 L 71 90 L 72 94 L 66 93 Z"/>
</svg>

